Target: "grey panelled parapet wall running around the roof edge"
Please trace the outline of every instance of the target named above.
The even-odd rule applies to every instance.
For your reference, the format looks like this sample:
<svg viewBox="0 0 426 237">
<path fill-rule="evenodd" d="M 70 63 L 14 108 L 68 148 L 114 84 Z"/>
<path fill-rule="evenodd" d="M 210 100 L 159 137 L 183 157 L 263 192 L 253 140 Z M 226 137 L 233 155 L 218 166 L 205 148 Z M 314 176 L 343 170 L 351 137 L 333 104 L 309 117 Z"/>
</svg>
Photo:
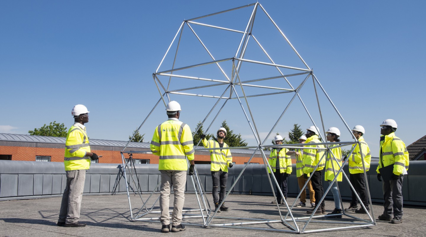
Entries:
<svg viewBox="0 0 426 237">
<path fill-rule="evenodd" d="M 235 182 L 245 165 L 234 165 L 228 169 L 227 191 Z M 210 165 L 196 165 L 201 185 L 206 192 L 212 191 Z M 371 164 L 367 179 L 373 202 L 383 202 L 382 182 L 377 181 L 377 162 Z M 343 169 L 347 176 L 348 167 Z M 409 175 L 404 177 L 403 197 L 405 204 L 426 206 L 426 161 L 410 162 Z M 296 166 L 288 178 L 288 196 L 296 197 L 299 192 Z M 133 176 L 133 180 L 130 178 Z M 152 192 L 160 182 L 158 165 L 137 164 L 133 171 L 126 170 L 130 191 L 138 185 L 143 193 Z M 188 176 L 189 177 L 189 176 Z M 64 165 L 61 162 L 29 162 L 29 161 L 0 161 L 0 201 L 14 199 L 33 199 L 45 197 L 60 197 L 66 184 Z M 328 182 L 324 181 L 324 190 Z M 159 187 L 155 191 L 159 191 Z M 343 200 L 351 199 L 348 182 L 343 178 L 339 182 Z M 264 165 L 248 165 L 241 178 L 236 182 L 232 193 L 272 196 L 271 185 L 268 181 Z M 194 192 L 190 178 L 187 179 L 187 192 Z M 84 195 L 126 194 L 126 182 L 122 164 L 92 164 L 86 173 Z M 271 199 L 271 197 L 265 197 Z M 331 192 L 327 198 L 332 199 Z"/>
</svg>

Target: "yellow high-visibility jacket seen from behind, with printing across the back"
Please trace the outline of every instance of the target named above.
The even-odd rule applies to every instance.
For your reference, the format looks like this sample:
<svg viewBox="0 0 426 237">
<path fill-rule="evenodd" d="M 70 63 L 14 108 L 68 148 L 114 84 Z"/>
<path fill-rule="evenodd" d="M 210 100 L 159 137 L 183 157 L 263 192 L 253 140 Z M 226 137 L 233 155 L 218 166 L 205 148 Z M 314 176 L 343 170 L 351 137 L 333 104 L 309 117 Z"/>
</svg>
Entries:
<svg viewBox="0 0 426 237">
<path fill-rule="evenodd" d="M 155 128 L 151 151 L 160 156 L 158 170 L 187 171 L 188 160 L 194 159 L 191 129 L 178 119 L 169 119 Z"/>
</svg>

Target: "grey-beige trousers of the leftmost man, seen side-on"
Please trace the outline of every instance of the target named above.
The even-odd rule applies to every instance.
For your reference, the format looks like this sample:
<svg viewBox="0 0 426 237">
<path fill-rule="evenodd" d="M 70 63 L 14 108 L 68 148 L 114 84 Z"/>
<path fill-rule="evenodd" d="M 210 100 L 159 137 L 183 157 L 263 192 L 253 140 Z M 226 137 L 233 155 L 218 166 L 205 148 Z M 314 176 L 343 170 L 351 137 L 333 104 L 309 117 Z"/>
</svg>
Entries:
<svg viewBox="0 0 426 237">
<path fill-rule="evenodd" d="M 62 195 L 58 222 L 71 224 L 78 222 L 78 219 L 80 219 L 86 170 L 65 171 L 65 173 L 66 187 Z"/>
</svg>

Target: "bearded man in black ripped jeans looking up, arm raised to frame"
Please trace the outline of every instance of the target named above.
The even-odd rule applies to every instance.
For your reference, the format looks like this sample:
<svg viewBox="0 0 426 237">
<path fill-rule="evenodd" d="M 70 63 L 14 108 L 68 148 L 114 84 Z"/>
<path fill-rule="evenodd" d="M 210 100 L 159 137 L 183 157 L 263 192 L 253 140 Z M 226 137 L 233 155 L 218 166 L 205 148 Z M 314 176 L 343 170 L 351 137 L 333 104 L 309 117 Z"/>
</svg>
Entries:
<svg viewBox="0 0 426 237">
<path fill-rule="evenodd" d="M 216 134 L 217 139 L 210 141 L 207 141 L 204 134 L 201 135 L 203 146 L 206 148 L 228 147 L 228 145 L 223 141 L 223 139 L 225 139 L 226 137 L 226 129 L 224 127 L 221 127 L 219 128 L 219 130 L 217 130 Z M 233 166 L 231 151 L 229 149 L 210 150 L 210 158 L 210 171 L 212 173 L 213 181 L 212 195 L 214 206 L 216 210 L 219 208 L 218 212 L 229 211 L 229 208 L 225 206 L 225 202 L 223 202 L 220 207 L 219 204 L 225 198 L 226 182 L 228 179 L 228 166 L 229 168 Z"/>
</svg>

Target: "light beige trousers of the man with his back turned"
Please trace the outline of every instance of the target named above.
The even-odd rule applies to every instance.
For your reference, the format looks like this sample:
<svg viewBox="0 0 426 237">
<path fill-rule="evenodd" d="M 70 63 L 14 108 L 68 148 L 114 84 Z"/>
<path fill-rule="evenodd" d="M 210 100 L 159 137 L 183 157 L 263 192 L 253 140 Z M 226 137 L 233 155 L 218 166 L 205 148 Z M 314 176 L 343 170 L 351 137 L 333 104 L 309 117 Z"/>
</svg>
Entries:
<svg viewBox="0 0 426 237">
<path fill-rule="evenodd" d="M 162 225 L 170 225 L 170 187 L 173 185 L 175 199 L 173 201 L 172 225 L 179 225 L 182 221 L 182 208 L 185 202 L 186 171 L 160 171 L 160 221 Z"/>
</svg>

